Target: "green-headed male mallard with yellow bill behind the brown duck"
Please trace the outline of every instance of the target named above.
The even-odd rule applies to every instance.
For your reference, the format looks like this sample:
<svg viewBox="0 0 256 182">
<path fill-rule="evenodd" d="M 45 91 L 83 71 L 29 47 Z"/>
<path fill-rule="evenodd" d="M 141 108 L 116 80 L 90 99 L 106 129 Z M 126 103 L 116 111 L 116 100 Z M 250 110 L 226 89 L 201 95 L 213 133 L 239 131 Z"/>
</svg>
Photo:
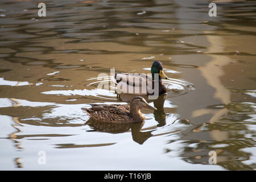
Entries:
<svg viewBox="0 0 256 182">
<path fill-rule="evenodd" d="M 167 92 L 163 79 L 168 79 L 164 75 L 163 64 L 160 61 L 154 61 L 151 67 L 151 75 L 138 73 L 115 73 L 115 84 L 117 84 L 117 93 L 128 93 L 137 95 L 162 95 Z M 155 89 L 156 88 L 156 89 Z"/>
</svg>

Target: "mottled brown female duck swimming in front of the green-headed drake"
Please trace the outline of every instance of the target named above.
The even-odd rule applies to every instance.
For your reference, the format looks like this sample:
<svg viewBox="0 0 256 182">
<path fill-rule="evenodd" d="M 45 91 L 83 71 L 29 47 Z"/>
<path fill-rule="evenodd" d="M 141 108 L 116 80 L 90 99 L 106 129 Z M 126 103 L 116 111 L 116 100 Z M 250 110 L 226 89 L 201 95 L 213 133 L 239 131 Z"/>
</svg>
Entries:
<svg viewBox="0 0 256 182">
<path fill-rule="evenodd" d="M 143 122 L 145 117 L 142 108 L 154 109 L 142 97 L 134 97 L 129 105 L 92 105 L 92 108 L 82 108 L 94 121 L 105 123 L 136 123 Z"/>
</svg>

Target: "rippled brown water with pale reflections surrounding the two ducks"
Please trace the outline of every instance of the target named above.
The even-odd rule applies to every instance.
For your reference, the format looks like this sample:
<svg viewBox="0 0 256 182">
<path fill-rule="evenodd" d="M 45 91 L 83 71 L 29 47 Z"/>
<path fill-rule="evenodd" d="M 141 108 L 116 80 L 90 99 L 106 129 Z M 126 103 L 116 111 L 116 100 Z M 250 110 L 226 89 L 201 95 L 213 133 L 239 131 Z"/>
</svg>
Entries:
<svg viewBox="0 0 256 182">
<path fill-rule="evenodd" d="M 0 2 L 0 169 L 256 168 L 256 1 L 214 1 L 217 17 L 200 0 L 45 2 L 41 18 L 38 1 Z M 100 73 L 154 60 L 171 78 L 157 112 L 85 125 L 81 107 L 129 100 Z"/>
</svg>

